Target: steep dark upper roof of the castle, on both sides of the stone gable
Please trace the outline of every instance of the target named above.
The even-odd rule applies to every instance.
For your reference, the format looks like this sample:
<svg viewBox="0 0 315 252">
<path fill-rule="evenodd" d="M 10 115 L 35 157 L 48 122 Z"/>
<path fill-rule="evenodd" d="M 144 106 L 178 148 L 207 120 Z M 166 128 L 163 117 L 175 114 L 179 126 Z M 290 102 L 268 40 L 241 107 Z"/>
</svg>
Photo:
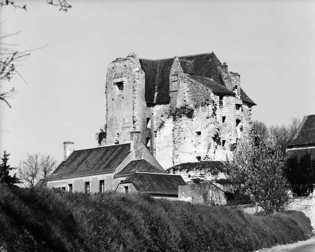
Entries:
<svg viewBox="0 0 315 252">
<path fill-rule="evenodd" d="M 194 72 L 196 75 L 213 78 L 217 83 L 223 83 L 221 78 L 222 63 L 214 53 L 190 55 L 178 57 L 179 60 L 194 61 L 194 70 L 191 69 L 192 63 L 180 61 L 184 65 L 184 72 Z M 157 92 L 156 103 L 170 101 L 170 71 L 175 58 L 164 60 L 139 59 L 141 67 L 145 73 L 145 101 L 154 102 L 154 94 Z"/>
</svg>

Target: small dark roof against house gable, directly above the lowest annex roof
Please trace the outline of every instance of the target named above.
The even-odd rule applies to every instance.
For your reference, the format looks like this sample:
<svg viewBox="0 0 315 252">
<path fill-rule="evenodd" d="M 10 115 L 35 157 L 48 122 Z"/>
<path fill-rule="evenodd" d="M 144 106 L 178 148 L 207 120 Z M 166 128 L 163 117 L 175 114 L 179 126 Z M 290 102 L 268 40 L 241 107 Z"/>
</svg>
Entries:
<svg viewBox="0 0 315 252">
<path fill-rule="evenodd" d="M 130 161 L 122 170 L 116 175 L 129 174 L 135 172 L 154 172 L 154 173 L 166 173 L 163 168 L 155 167 L 144 159 Z"/>
</svg>

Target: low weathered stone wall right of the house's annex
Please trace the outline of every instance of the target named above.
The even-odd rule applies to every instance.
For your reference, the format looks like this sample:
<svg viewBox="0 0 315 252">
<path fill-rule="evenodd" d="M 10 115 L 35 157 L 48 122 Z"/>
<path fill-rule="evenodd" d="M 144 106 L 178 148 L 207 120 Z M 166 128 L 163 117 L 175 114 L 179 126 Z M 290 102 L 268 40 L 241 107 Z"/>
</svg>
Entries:
<svg viewBox="0 0 315 252">
<path fill-rule="evenodd" d="M 200 182 L 178 187 L 178 199 L 193 204 L 225 205 L 224 191 L 210 182 Z"/>
</svg>

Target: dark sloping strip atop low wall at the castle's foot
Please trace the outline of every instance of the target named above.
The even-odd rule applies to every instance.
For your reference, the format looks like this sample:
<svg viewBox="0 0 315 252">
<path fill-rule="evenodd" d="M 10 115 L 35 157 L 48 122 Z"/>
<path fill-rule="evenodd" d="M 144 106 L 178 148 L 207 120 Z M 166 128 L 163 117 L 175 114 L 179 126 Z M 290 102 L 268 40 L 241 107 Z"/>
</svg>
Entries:
<svg viewBox="0 0 315 252">
<path fill-rule="evenodd" d="M 201 162 L 193 162 L 193 163 L 181 163 L 177 164 L 169 169 L 167 172 L 174 171 L 181 171 L 181 170 L 217 170 L 222 171 L 223 163 L 221 161 L 201 161 Z"/>
</svg>

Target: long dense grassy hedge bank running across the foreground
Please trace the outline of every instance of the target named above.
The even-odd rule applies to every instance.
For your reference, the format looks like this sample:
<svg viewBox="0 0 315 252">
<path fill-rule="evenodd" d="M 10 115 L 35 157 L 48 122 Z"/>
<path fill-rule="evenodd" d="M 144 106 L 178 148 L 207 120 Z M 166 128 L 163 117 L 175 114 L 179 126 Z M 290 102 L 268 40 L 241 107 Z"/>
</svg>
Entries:
<svg viewBox="0 0 315 252">
<path fill-rule="evenodd" d="M 252 252 L 311 233 L 300 212 L 251 216 L 139 194 L 0 187 L 1 252 Z"/>
</svg>

